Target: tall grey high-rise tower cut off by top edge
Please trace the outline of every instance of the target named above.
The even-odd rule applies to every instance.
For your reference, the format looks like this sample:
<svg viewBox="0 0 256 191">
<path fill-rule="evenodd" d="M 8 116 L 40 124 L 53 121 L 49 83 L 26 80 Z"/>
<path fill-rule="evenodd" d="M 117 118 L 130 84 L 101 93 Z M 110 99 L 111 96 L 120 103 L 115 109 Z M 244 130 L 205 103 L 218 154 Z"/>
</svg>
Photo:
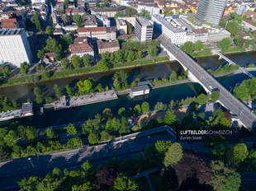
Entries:
<svg viewBox="0 0 256 191">
<path fill-rule="evenodd" d="M 218 26 L 225 10 L 226 0 L 201 0 L 197 9 L 197 19 Z"/>
</svg>

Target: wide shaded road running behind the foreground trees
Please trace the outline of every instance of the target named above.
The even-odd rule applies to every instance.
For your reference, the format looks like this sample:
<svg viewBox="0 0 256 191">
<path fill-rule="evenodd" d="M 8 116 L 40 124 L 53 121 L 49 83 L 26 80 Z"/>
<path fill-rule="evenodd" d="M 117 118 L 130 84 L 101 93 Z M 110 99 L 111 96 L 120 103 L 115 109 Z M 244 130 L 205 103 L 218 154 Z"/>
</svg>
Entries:
<svg viewBox="0 0 256 191">
<path fill-rule="evenodd" d="M 22 158 L 0 163 L 0 189 L 17 189 L 17 181 L 32 175 L 44 176 L 55 167 L 69 170 L 78 168 L 84 161 L 90 160 L 93 165 L 99 165 L 112 157 L 126 160 L 134 157 L 145 147 L 154 144 L 158 140 L 171 140 L 175 142 L 176 137 L 164 131 L 165 127 L 154 128 L 142 133 L 134 133 L 116 138 L 111 142 L 104 142 L 92 147 L 83 147 L 72 151 L 63 151 L 44 156 L 33 156 L 31 161 Z M 155 133 L 155 134 L 152 134 Z M 149 136 L 149 134 L 151 134 Z"/>
</svg>

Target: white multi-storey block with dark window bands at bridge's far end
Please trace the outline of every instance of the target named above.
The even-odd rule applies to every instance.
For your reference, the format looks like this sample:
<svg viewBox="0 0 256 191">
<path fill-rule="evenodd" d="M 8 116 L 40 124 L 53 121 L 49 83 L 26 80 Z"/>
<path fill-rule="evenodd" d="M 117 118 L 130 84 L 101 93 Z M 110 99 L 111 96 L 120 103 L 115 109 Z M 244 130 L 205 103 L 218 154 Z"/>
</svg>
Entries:
<svg viewBox="0 0 256 191">
<path fill-rule="evenodd" d="M 154 23 L 145 17 L 136 18 L 135 35 L 140 41 L 150 41 L 153 37 Z"/>
</svg>

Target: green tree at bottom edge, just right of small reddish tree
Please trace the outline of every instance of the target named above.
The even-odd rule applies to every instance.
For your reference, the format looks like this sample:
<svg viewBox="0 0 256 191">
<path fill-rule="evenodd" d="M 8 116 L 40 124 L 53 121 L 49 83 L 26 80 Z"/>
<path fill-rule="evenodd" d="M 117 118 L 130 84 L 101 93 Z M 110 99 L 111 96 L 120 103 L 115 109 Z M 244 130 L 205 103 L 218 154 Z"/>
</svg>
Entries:
<svg viewBox="0 0 256 191">
<path fill-rule="evenodd" d="M 118 191 L 135 191 L 138 190 L 138 184 L 133 179 L 120 173 L 114 182 L 114 189 Z"/>
</svg>

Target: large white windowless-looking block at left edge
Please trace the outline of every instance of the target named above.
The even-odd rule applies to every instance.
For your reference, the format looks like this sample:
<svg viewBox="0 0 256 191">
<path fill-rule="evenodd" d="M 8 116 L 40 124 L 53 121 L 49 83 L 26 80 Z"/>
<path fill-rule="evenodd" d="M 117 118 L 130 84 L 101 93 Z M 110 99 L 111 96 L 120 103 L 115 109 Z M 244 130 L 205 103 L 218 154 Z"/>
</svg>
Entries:
<svg viewBox="0 0 256 191">
<path fill-rule="evenodd" d="M 20 67 L 23 62 L 32 62 L 31 47 L 25 30 L 0 30 L 0 63 L 10 63 Z"/>
</svg>

